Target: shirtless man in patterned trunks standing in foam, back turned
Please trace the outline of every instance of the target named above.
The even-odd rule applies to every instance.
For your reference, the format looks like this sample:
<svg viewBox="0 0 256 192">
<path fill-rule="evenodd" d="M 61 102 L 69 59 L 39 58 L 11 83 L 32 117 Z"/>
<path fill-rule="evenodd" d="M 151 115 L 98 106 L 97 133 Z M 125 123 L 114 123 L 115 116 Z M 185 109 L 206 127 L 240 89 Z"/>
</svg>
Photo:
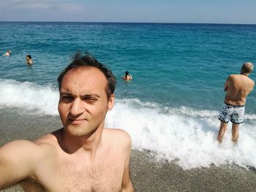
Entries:
<svg viewBox="0 0 256 192">
<path fill-rule="evenodd" d="M 229 121 L 232 125 L 232 140 L 238 140 L 238 127 L 244 120 L 244 108 L 246 96 L 252 92 L 255 82 L 248 76 L 253 71 L 253 64 L 246 62 L 241 67 L 240 74 L 230 74 L 224 85 L 224 91 L 227 91 L 225 102 L 219 113 L 220 128 L 218 141 L 222 142 L 222 138 L 227 129 Z"/>
</svg>

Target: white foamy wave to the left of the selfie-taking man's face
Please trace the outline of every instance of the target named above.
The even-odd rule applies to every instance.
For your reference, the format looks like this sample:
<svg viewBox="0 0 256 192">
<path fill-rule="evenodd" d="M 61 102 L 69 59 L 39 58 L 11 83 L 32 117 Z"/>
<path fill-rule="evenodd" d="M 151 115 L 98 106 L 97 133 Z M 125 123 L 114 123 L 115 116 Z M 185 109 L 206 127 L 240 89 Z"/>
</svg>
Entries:
<svg viewBox="0 0 256 192">
<path fill-rule="evenodd" d="M 18 107 L 43 115 L 58 115 L 59 92 L 51 85 L 0 79 L 0 106 Z"/>
</svg>

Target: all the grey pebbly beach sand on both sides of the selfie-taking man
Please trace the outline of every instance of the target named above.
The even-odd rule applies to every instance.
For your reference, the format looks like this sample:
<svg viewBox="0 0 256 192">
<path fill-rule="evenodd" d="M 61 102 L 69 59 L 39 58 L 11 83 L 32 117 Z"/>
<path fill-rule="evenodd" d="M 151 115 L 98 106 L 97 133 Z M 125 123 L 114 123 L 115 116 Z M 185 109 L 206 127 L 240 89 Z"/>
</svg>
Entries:
<svg viewBox="0 0 256 192">
<path fill-rule="evenodd" d="M 36 139 L 61 127 L 58 117 L 15 115 L 0 110 L 0 145 Z M 183 170 L 175 162 L 156 161 L 148 151 L 132 150 L 130 176 L 135 191 L 256 191 L 255 169 L 235 165 Z M 22 191 L 18 185 L 2 191 Z"/>
</svg>

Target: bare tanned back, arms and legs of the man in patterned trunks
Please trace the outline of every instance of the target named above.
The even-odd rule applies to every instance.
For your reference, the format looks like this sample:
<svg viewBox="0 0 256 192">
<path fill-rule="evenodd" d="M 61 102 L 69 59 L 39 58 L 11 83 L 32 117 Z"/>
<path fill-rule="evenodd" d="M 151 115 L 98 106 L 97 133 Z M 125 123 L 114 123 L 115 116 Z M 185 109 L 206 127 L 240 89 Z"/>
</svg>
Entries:
<svg viewBox="0 0 256 192">
<path fill-rule="evenodd" d="M 248 76 L 250 73 L 231 74 L 227 77 L 224 85 L 224 91 L 227 91 L 225 96 L 225 102 L 232 105 L 245 105 L 246 96 L 252 92 L 255 82 Z M 225 131 L 227 130 L 228 123 L 220 122 L 218 141 L 222 142 Z M 232 140 L 237 142 L 238 140 L 238 128 L 239 124 L 232 124 Z"/>
</svg>

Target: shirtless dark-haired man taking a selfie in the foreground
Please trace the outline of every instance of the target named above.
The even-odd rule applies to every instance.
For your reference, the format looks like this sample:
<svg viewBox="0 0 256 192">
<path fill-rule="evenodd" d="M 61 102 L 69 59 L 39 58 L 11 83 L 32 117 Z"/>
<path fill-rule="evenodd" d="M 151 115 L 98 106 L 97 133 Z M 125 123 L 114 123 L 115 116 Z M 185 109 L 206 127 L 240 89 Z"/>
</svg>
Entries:
<svg viewBox="0 0 256 192">
<path fill-rule="evenodd" d="M 58 81 L 64 128 L 2 146 L 0 189 L 20 183 L 29 192 L 134 191 L 129 134 L 104 128 L 116 77 L 91 55 L 77 53 Z"/>
</svg>

